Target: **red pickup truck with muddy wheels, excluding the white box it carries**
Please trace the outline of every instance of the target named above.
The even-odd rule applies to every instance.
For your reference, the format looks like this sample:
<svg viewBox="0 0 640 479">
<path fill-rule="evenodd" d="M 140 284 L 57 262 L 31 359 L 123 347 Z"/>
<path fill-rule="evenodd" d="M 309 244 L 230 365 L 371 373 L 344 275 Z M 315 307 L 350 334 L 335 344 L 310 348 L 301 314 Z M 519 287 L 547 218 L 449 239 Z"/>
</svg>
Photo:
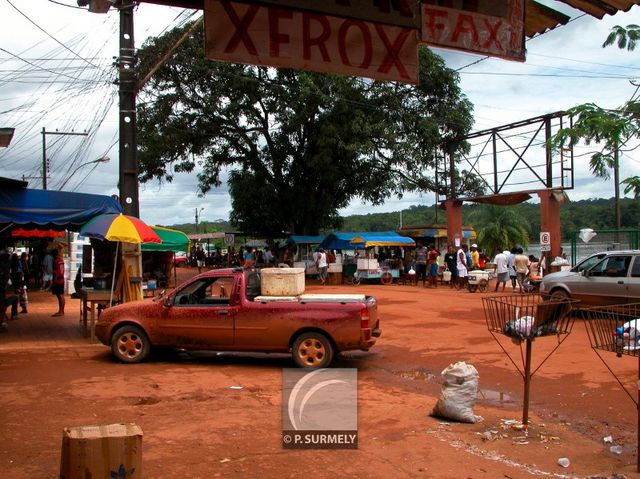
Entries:
<svg viewBox="0 0 640 479">
<path fill-rule="evenodd" d="M 327 367 L 341 351 L 371 348 L 381 334 L 371 296 L 260 296 L 260 271 L 202 273 L 153 300 L 105 310 L 96 336 L 125 363 L 154 346 L 189 350 L 290 352 L 303 368 Z"/>
</svg>

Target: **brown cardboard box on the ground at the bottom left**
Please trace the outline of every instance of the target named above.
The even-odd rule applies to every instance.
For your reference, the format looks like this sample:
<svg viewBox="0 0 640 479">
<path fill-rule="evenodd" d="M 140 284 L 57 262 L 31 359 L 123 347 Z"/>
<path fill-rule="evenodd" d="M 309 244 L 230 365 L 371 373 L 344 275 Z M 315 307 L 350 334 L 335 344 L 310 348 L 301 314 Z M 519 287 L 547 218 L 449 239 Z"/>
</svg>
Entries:
<svg viewBox="0 0 640 479">
<path fill-rule="evenodd" d="M 67 427 L 60 479 L 142 478 L 142 429 L 136 424 Z"/>
</svg>

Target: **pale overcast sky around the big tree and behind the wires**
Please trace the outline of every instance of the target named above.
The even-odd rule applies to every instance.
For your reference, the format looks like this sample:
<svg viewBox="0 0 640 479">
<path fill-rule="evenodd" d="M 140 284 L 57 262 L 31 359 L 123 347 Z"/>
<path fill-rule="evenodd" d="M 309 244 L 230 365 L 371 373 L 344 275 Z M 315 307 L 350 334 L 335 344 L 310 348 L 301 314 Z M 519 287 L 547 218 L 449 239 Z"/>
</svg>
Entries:
<svg viewBox="0 0 640 479">
<path fill-rule="evenodd" d="M 584 102 L 617 107 L 634 94 L 636 87 L 629 80 L 640 78 L 640 51 L 603 49 L 601 44 L 612 26 L 640 23 L 640 7 L 597 20 L 560 2 L 545 3 L 574 20 L 529 40 L 525 63 L 437 50 L 450 68 L 460 70 L 462 90 L 474 104 L 475 130 Z M 75 0 L 0 0 L 0 127 L 16 128 L 11 146 L 0 149 L 0 176 L 24 176 L 30 187 L 40 188 L 41 130 L 88 130 L 86 137 L 46 135 L 49 188 L 117 194 L 118 113 L 111 64 L 118 55 L 118 14 L 90 14 L 75 5 Z M 142 4 L 135 13 L 136 46 L 186 20 L 189 13 Z M 587 151 L 579 148 L 576 154 Z M 101 158 L 111 161 L 96 161 Z M 576 158 L 576 188 L 569 198 L 611 197 L 612 182 L 593 178 L 587 162 L 588 156 Z M 636 151 L 621 160 L 621 177 L 632 174 L 640 174 Z M 196 183 L 195 175 L 180 174 L 170 184 L 141 185 L 142 219 L 164 225 L 193 222 L 196 208 L 204 208 L 201 220 L 228 219 L 226 187 L 198 198 Z M 433 202 L 433 194 L 390 198 L 375 208 L 355 201 L 341 213 L 398 211 Z"/>
</svg>

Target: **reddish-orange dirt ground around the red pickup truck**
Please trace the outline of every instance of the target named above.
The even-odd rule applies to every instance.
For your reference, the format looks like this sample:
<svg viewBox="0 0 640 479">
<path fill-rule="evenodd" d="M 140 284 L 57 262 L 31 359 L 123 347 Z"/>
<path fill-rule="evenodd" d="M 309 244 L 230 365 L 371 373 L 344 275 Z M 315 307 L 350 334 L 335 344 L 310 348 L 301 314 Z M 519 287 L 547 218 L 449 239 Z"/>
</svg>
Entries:
<svg viewBox="0 0 640 479">
<path fill-rule="evenodd" d="M 282 448 L 282 369 L 293 367 L 285 355 L 176 352 L 119 364 L 82 337 L 78 300 L 52 318 L 55 298 L 32 292 L 29 313 L 0 335 L 1 476 L 55 478 L 64 427 L 132 422 L 144 431 L 146 478 L 640 477 L 636 406 L 590 348 L 582 320 L 534 375 L 525 435 L 510 423 L 522 417 L 523 380 L 487 330 L 489 293 L 308 282 L 307 292 L 318 291 L 379 300 L 378 344 L 335 362 L 358 369 L 357 450 Z M 520 348 L 498 338 L 522 365 Z M 557 345 L 555 336 L 537 339 L 534 367 Z M 633 391 L 637 360 L 603 357 Z M 479 371 L 477 424 L 431 416 L 440 372 L 456 361 Z"/>
</svg>

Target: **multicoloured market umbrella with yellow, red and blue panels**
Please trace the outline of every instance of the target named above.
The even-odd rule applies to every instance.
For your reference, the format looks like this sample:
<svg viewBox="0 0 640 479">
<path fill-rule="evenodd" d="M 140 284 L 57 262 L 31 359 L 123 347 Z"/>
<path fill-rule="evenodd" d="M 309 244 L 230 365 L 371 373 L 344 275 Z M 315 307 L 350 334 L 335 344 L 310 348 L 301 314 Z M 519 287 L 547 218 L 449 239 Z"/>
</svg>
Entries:
<svg viewBox="0 0 640 479">
<path fill-rule="evenodd" d="M 96 216 L 80 228 L 80 236 L 125 243 L 162 243 L 150 226 L 122 213 Z"/>
</svg>

